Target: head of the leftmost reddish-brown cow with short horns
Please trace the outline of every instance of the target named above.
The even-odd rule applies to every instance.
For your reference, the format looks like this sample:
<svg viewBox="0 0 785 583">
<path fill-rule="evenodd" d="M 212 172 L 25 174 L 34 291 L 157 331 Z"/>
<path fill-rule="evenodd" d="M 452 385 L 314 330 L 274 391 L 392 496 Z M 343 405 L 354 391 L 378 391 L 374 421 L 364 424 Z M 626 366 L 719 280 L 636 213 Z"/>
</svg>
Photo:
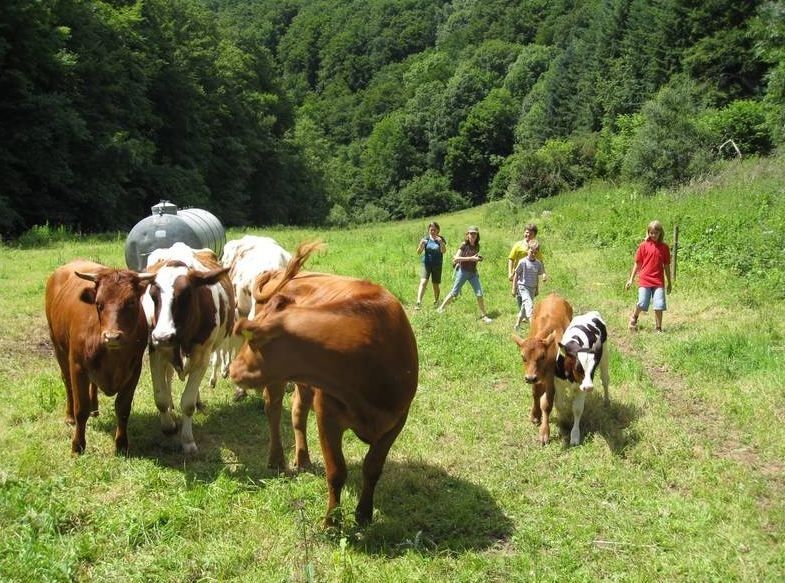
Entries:
<svg viewBox="0 0 785 583">
<path fill-rule="evenodd" d="M 74 274 L 95 284 L 92 288 L 85 288 L 80 299 L 95 306 L 101 343 L 109 349 L 119 348 L 125 343 L 128 333 L 144 322 L 140 298 L 155 275 L 125 269 L 76 271 Z"/>
</svg>

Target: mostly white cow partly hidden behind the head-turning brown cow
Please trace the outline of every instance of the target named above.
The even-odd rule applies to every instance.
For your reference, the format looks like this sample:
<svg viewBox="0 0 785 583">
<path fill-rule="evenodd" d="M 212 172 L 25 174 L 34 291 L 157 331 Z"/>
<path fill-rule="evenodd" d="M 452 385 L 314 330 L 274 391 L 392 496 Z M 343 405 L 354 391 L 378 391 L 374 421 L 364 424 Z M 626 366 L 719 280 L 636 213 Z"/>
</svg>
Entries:
<svg viewBox="0 0 785 583">
<path fill-rule="evenodd" d="M 229 268 L 229 278 L 234 288 L 235 321 L 254 316 L 253 285 L 256 277 L 265 271 L 286 267 L 291 258 L 291 253 L 270 237 L 246 235 L 226 244 L 221 263 Z M 210 357 L 211 387 L 215 387 L 218 381 L 219 370 L 223 377 L 229 375 L 229 363 L 242 343 L 242 336 L 232 335 L 213 351 Z M 245 396 L 245 390 L 238 387 L 235 400 Z"/>
</svg>

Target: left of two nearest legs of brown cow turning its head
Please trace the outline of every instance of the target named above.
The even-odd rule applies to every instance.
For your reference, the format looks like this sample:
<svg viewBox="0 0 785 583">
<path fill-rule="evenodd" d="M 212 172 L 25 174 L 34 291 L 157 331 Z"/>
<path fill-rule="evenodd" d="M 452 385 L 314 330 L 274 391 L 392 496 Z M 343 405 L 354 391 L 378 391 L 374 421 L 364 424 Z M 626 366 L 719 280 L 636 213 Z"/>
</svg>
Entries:
<svg viewBox="0 0 785 583">
<path fill-rule="evenodd" d="M 317 391 L 314 397 L 319 444 L 327 478 L 327 515 L 324 526 L 329 528 L 340 522 L 340 517 L 336 517 L 336 509 L 341 503 L 341 490 L 346 483 L 346 460 L 343 457 L 343 432 L 346 428 L 339 421 L 332 397 L 324 391 Z"/>
</svg>

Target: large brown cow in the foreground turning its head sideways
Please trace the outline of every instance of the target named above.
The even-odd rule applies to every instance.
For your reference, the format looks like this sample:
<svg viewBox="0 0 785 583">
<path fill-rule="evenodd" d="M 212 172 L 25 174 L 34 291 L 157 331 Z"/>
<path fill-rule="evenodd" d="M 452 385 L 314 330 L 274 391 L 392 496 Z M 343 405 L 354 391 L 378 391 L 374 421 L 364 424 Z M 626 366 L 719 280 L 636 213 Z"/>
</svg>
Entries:
<svg viewBox="0 0 785 583">
<path fill-rule="evenodd" d="M 300 246 L 286 270 L 259 278 L 256 316 L 235 326 L 248 341 L 232 362 L 230 376 L 245 387 L 269 388 L 286 381 L 314 387 L 327 477 L 327 526 L 335 522 L 333 511 L 346 482 L 343 433 L 351 429 L 369 445 L 355 511 L 357 522 L 367 524 L 376 483 L 417 390 L 417 343 L 400 302 L 381 286 L 301 273 L 316 247 Z M 292 405 L 298 461 L 308 406 L 303 389 L 298 386 Z"/>
</svg>

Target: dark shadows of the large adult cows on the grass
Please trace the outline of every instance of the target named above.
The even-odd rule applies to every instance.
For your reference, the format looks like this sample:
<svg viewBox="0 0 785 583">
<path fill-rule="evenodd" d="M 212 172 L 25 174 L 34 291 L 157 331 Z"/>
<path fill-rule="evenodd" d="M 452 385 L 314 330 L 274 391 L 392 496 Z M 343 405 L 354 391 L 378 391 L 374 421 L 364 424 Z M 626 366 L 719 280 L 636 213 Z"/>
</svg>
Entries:
<svg viewBox="0 0 785 583">
<path fill-rule="evenodd" d="M 192 458 L 183 456 L 179 435 L 161 433 L 157 414 L 132 413 L 130 457 L 151 459 L 180 470 L 189 483 L 210 482 L 219 475 L 229 475 L 255 488 L 261 480 L 279 476 L 286 479 L 286 475 L 294 475 L 293 470 L 282 474 L 267 468 L 269 425 L 262 411 L 262 400 L 256 396 L 240 403 L 210 405 L 208 402 L 206 411 L 195 417 L 194 436 L 199 453 Z M 294 435 L 287 408 L 282 418 L 282 439 L 288 459 L 293 452 Z M 114 411 L 104 407 L 100 417 L 91 419 L 90 423 L 111 435 L 115 429 Z M 312 455 L 319 458 L 316 431 L 309 433 L 309 445 Z M 363 448 L 362 455 L 366 451 Z M 354 533 L 350 538 L 360 552 L 396 556 L 409 550 L 423 554 L 482 550 L 509 539 L 513 532 L 512 521 L 486 489 L 450 476 L 435 466 L 394 460 L 387 461 L 377 485 L 373 522 L 364 529 L 352 528 L 353 520 L 349 517 L 354 513 L 353 504 L 361 489 L 362 460 L 347 461 L 348 479 L 344 488 L 347 495 L 343 500 L 343 513 L 347 517 L 345 532 Z M 324 468 L 317 463 L 311 472 L 323 476 Z M 325 493 L 325 508 L 326 503 Z M 318 529 L 317 524 L 313 526 Z"/>
</svg>

